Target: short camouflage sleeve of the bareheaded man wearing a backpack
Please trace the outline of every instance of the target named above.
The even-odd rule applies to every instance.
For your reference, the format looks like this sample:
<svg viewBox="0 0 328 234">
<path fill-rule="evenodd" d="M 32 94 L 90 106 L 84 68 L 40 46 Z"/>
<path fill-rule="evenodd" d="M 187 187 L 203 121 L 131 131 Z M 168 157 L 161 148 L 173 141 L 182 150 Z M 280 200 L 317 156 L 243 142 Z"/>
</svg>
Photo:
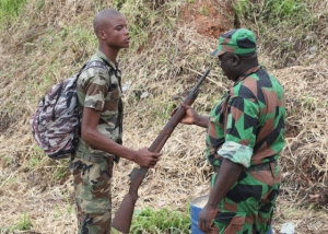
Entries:
<svg viewBox="0 0 328 234">
<path fill-rule="evenodd" d="M 92 68 L 86 73 L 89 73 L 87 79 L 82 81 L 85 92 L 84 107 L 102 112 L 108 92 L 105 74 L 99 69 Z"/>
</svg>

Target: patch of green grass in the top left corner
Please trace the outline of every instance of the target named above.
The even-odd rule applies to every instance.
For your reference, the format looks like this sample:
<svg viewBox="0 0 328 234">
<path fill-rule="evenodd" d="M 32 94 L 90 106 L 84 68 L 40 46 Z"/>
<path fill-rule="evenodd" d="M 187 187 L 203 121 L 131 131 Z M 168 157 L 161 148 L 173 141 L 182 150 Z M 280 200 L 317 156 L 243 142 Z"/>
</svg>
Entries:
<svg viewBox="0 0 328 234">
<path fill-rule="evenodd" d="M 20 14 L 25 2 L 26 0 L 0 0 L 0 28 Z"/>
</svg>

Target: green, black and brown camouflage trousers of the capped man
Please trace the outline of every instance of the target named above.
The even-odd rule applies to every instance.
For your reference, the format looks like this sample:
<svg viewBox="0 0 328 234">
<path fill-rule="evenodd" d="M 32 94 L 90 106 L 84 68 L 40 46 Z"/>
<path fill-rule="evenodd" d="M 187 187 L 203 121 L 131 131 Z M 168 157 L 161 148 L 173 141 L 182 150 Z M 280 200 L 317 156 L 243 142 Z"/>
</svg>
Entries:
<svg viewBox="0 0 328 234">
<path fill-rule="evenodd" d="M 212 177 L 214 185 L 218 173 Z M 281 171 L 243 171 L 236 184 L 219 203 L 214 224 L 220 234 L 265 234 L 269 231 L 279 195 Z"/>
</svg>

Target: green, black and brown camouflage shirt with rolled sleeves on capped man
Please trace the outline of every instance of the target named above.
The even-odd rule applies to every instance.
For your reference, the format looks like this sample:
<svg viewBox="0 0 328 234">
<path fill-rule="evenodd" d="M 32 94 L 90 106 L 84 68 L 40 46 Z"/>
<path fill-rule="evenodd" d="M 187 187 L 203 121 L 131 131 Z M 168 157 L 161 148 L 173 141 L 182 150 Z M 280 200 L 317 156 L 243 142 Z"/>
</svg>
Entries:
<svg viewBox="0 0 328 234">
<path fill-rule="evenodd" d="M 260 66 L 250 69 L 211 110 L 207 159 L 226 157 L 245 167 L 271 162 L 284 147 L 283 87 Z"/>
</svg>

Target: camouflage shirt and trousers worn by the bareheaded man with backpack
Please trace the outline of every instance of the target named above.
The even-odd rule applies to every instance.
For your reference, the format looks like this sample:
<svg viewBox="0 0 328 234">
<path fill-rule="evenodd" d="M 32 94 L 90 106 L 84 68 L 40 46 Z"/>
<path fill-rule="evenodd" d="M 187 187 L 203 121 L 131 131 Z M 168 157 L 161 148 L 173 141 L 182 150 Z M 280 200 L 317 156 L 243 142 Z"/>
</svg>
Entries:
<svg viewBox="0 0 328 234">
<path fill-rule="evenodd" d="M 77 85 L 79 104 L 102 112 L 97 129 L 108 139 L 121 143 L 120 70 L 99 50 L 92 56 L 90 62 L 92 61 L 104 61 L 108 69 L 90 68 L 80 74 Z M 102 157 L 104 161 L 94 161 Z M 93 149 L 79 139 L 78 151 L 71 166 L 80 234 L 110 233 L 110 177 L 114 159 L 114 155 Z"/>
</svg>

